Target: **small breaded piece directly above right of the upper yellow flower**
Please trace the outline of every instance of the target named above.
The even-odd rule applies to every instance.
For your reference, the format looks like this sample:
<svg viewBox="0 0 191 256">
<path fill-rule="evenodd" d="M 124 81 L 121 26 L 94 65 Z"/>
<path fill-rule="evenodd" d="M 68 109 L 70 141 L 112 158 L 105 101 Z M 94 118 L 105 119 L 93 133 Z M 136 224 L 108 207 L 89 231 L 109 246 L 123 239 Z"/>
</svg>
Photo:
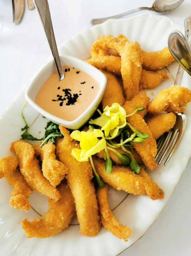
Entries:
<svg viewBox="0 0 191 256">
<path fill-rule="evenodd" d="M 137 112 L 139 115 L 144 117 L 147 114 L 147 105 L 149 103 L 150 98 L 147 96 L 145 91 L 142 91 L 141 94 L 136 95 L 132 100 L 126 101 L 125 105 L 128 105 L 133 109 L 133 111 L 137 107 L 144 107 L 145 109 Z"/>
</svg>

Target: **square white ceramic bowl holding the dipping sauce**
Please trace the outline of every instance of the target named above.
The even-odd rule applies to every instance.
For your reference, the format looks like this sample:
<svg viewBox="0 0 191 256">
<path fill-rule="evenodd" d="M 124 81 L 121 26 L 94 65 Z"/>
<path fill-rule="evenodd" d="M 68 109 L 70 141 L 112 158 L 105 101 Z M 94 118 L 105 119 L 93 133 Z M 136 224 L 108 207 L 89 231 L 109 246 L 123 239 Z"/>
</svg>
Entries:
<svg viewBox="0 0 191 256">
<path fill-rule="evenodd" d="M 30 82 L 26 92 L 25 97 L 28 101 L 28 103 L 34 107 L 39 113 L 41 113 L 43 116 L 45 116 L 47 119 L 51 120 L 52 122 L 62 125 L 66 128 L 77 130 L 79 129 L 83 124 L 85 124 L 89 118 L 93 115 L 93 113 L 98 108 L 101 99 L 103 97 L 105 87 L 107 84 L 107 78 L 105 75 L 100 72 L 98 69 L 94 68 L 90 64 L 86 63 L 85 61 L 79 60 L 77 58 L 68 56 L 68 55 L 60 55 L 60 61 L 62 65 L 69 65 L 74 68 L 78 68 L 90 76 L 92 76 L 95 80 L 98 81 L 100 90 L 98 92 L 98 95 L 93 100 L 91 105 L 86 109 L 86 111 L 83 112 L 77 119 L 73 121 L 66 121 L 63 120 L 57 116 L 54 116 L 41 107 L 39 107 L 35 101 L 35 98 L 38 94 L 38 91 L 40 90 L 43 83 L 51 76 L 51 74 L 56 71 L 56 66 L 54 63 L 54 60 L 51 60 L 47 63 L 47 65 L 39 70 L 36 77 Z"/>
</svg>

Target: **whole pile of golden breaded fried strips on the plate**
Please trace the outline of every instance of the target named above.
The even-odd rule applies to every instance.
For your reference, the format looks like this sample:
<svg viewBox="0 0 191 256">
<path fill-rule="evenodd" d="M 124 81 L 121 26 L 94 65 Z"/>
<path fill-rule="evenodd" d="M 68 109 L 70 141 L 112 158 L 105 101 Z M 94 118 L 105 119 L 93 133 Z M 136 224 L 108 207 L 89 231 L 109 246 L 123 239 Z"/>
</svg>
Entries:
<svg viewBox="0 0 191 256">
<path fill-rule="evenodd" d="M 131 147 L 132 158 L 138 164 L 144 163 L 149 171 L 157 168 L 156 140 L 172 129 L 176 122 L 175 114 L 184 111 L 191 101 L 191 91 L 178 86 L 160 91 L 151 101 L 145 91 L 139 94 L 140 90 L 153 89 L 168 79 L 167 73 L 159 69 L 172 61 L 168 47 L 147 53 L 138 42 L 129 42 L 123 35 L 117 38 L 99 36 L 92 45 L 91 59 L 87 60 L 107 77 L 102 108 L 118 103 L 128 115 L 125 115 L 127 124 L 143 135 L 147 134 L 141 143 L 130 141 L 125 147 Z M 143 110 L 132 115 L 138 107 Z M 87 135 L 88 128 L 83 128 Z M 0 178 L 6 178 L 13 187 L 10 206 L 28 211 L 33 191 L 47 196 L 49 210 L 41 218 L 22 221 L 27 237 L 51 237 L 67 228 L 77 213 L 82 235 L 95 236 L 102 224 L 114 236 L 127 241 L 131 229 L 119 223 L 112 214 L 108 202 L 109 187 L 149 196 L 151 200 L 162 199 L 162 189 L 143 168 L 136 174 L 125 166 L 112 148 L 108 149 L 109 157 L 115 163 L 111 173 L 106 173 L 104 150 L 97 151 L 92 160 L 78 161 L 72 156 L 72 150 L 80 149 L 79 142 L 72 139 L 66 128 L 59 126 L 59 129 L 63 138 L 57 138 L 56 143 L 47 142 L 41 147 L 41 142 L 31 144 L 18 140 L 11 143 L 10 152 L 14 156 L 0 159 Z M 123 151 L 124 147 L 114 148 L 119 155 L 129 157 L 129 151 Z M 92 167 L 102 178 L 104 187 L 92 182 Z"/>
</svg>

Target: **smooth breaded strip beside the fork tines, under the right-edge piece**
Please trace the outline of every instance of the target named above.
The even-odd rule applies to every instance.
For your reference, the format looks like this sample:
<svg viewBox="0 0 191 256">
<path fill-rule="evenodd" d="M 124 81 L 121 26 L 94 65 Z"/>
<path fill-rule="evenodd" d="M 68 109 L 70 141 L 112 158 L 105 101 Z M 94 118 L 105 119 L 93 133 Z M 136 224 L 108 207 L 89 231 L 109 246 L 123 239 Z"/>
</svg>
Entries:
<svg viewBox="0 0 191 256">
<path fill-rule="evenodd" d="M 163 133 L 170 131 L 176 122 L 174 113 L 159 114 L 147 119 L 146 123 L 152 136 L 157 140 Z"/>
</svg>

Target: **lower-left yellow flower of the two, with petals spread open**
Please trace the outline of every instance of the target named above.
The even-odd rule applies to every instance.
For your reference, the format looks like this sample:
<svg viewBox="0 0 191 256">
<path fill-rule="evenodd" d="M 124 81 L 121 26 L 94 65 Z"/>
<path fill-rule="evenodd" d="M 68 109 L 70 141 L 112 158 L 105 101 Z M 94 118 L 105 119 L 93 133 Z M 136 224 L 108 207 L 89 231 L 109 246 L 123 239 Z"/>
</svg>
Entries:
<svg viewBox="0 0 191 256">
<path fill-rule="evenodd" d="M 103 132 L 99 129 L 93 129 L 89 126 L 87 132 L 73 131 L 70 136 L 72 139 L 80 141 L 81 149 L 72 149 L 71 155 L 79 162 L 88 161 L 88 158 L 106 147 L 105 139 L 98 140 L 98 137 L 103 137 Z"/>
</svg>

